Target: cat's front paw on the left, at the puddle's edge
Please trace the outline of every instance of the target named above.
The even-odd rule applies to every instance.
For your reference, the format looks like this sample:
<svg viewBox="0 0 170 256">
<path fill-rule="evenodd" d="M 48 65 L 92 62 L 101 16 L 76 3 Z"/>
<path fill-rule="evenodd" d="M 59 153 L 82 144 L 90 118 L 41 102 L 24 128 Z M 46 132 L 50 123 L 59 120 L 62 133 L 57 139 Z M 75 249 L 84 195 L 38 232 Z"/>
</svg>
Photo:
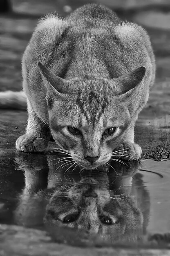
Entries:
<svg viewBox="0 0 170 256">
<path fill-rule="evenodd" d="M 33 135 L 24 134 L 16 141 L 16 149 L 24 152 L 43 152 L 47 148 L 47 141 Z"/>
</svg>

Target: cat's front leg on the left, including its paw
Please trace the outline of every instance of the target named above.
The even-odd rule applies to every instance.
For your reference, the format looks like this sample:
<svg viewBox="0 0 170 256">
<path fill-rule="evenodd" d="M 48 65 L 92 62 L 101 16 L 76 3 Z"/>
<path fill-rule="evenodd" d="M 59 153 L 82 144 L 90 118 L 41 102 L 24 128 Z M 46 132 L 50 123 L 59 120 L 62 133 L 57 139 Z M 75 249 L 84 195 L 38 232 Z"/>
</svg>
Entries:
<svg viewBox="0 0 170 256">
<path fill-rule="evenodd" d="M 50 139 L 49 126 L 44 124 L 42 120 L 37 117 L 30 103 L 27 103 L 27 132 L 17 139 L 16 148 L 24 152 L 43 152 L 45 148 L 47 148 Z"/>
</svg>

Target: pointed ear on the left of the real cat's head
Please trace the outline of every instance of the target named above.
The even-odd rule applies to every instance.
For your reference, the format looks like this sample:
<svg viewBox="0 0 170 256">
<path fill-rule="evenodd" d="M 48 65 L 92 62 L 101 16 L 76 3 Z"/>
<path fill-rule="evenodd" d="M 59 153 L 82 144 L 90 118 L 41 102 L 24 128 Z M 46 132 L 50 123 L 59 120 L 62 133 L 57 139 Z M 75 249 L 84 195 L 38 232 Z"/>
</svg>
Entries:
<svg viewBox="0 0 170 256">
<path fill-rule="evenodd" d="M 38 62 L 38 67 L 40 68 L 41 74 L 45 77 L 47 80 L 49 87 L 51 88 L 52 92 L 56 95 L 58 93 L 66 94 L 68 92 L 68 81 L 65 79 L 60 78 L 59 76 L 56 76 L 53 72 L 51 72 L 47 67 L 42 65 L 40 61 Z M 48 88 L 47 88 L 48 90 Z"/>
</svg>

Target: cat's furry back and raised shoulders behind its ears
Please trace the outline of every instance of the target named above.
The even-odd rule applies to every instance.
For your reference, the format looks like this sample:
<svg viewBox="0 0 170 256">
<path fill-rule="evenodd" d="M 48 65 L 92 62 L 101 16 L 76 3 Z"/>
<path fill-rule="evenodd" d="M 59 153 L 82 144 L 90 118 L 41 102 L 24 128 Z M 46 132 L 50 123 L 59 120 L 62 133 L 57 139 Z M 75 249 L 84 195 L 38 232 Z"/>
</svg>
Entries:
<svg viewBox="0 0 170 256">
<path fill-rule="evenodd" d="M 69 80 L 83 76 L 87 62 L 94 73 L 119 77 L 147 66 L 154 80 L 155 64 L 150 39 L 138 25 L 122 22 L 101 4 L 85 4 L 65 19 L 51 15 L 41 20 L 23 56 L 23 76 L 40 79 L 38 61 Z M 114 65 L 113 65 L 114 62 Z M 100 67 L 99 67 L 100 66 Z M 106 71 L 101 72 L 101 68 Z"/>
</svg>

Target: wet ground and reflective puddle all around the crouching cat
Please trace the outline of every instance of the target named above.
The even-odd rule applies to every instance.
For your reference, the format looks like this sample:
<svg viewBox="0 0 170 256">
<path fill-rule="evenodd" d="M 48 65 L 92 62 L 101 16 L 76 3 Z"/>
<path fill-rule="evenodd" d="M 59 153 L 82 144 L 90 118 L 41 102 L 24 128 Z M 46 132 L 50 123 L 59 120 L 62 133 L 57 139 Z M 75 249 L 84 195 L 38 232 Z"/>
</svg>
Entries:
<svg viewBox="0 0 170 256">
<path fill-rule="evenodd" d="M 0 110 L 0 255 L 170 254 L 170 7 L 162 2 L 152 15 L 116 5 L 120 16 L 145 26 L 156 54 L 156 82 L 135 127 L 141 161 L 81 172 L 63 165 L 54 142 L 45 154 L 17 152 L 27 113 Z M 65 16 L 66 4 L 81 5 L 13 0 L 18 14 L 0 16 L 2 91 L 21 89 L 21 57 L 37 18 L 54 9 Z"/>
</svg>

